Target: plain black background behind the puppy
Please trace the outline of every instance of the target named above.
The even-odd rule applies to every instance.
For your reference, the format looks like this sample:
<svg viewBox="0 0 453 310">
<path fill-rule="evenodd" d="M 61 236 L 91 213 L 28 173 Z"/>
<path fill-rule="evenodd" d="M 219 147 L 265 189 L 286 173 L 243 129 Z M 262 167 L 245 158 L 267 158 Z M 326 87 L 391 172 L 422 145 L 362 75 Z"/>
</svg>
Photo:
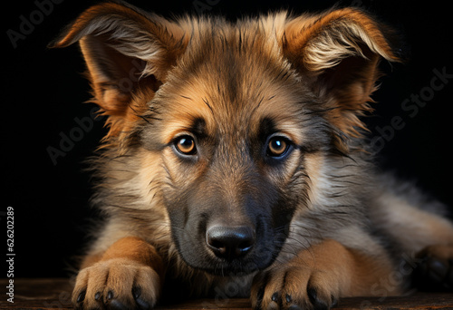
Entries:
<svg viewBox="0 0 453 310">
<path fill-rule="evenodd" d="M 90 1 L 59 0 L 46 12 L 36 13 L 40 3 L 50 0 L 15 1 L 3 11 L 4 35 L 2 70 L 2 207 L 1 231 L 5 237 L 8 206 L 14 208 L 14 276 L 67 276 L 71 257 L 79 253 L 88 220 L 95 218 L 88 207 L 90 175 L 82 171 L 82 161 L 92 155 L 101 140 L 101 121 L 94 121 L 79 141 L 68 146 L 56 164 L 48 148 L 59 149 L 63 135 L 81 127 L 77 120 L 90 117 L 92 104 L 88 82 L 82 77 L 84 63 L 77 46 L 48 50 L 49 43 L 63 25 L 72 21 Z M 54 0 L 57 2 L 56 0 Z M 169 16 L 194 12 L 194 1 L 131 0 L 148 11 Z M 327 0 L 297 1 L 205 1 L 217 3 L 205 7 L 205 13 L 239 15 L 288 8 L 294 13 L 318 11 L 338 3 Z M 404 127 L 395 130 L 381 150 L 382 166 L 396 169 L 405 178 L 416 179 L 419 186 L 453 205 L 451 195 L 451 126 L 453 79 L 442 90 L 432 92 L 426 106 L 411 118 L 401 103 L 412 94 L 429 94 L 434 70 L 453 74 L 453 27 L 448 2 L 432 5 L 426 1 L 343 1 L 341 5 L 360 5 L 392 25 L 404 37 L 401 44 L 410 55 L 408 63 L 384 64 L 386 76 L 375 93 L 376 116 L 367 120 L 371 137 L 379 135 L 378 127 L 389 129 L 398 116 Z M 195 2 L 197 4 L 197 2 Z M 21 17 L 22 16 L 22 17 Z M 43 17 L 40 19 L 40 16 Z M 8 30 L 20 32 L 24 18 L 34 18 L 33 29 L 14 48 Z M 439 81 L 438 81 L 439 82 Z M 386 131 L 390 135 L 390 131 Z M 5 171 L 5 172 L 4 172 Z M 4 240 L 4 237 L 0 238 Z M 5 242 L 6 243 L 6 242 Z M 7 252 L 6 245 L 1 247 Z M 2 259 L 4 260 L 4 259 Z M 6 266 L 0 277 L 6 276 Z"/>
</svg>

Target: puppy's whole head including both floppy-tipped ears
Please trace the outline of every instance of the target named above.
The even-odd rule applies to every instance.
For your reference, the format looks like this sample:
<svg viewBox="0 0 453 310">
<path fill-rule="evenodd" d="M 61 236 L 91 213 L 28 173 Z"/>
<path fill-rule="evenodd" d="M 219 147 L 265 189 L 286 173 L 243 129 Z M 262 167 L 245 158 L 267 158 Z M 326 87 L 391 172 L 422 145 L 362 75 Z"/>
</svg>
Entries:
<svg viewBox="0 0 453 310">
<path fill-rule="evenodd" d="M 218 275 L 275 260 L 294 213 L 313 208 L 323 158 L 360 136 L 380 58 L 397 60 L 354 9 L 231 24 L 108 3 L 53 46 L 77 41 L 108 115 L 104 147 L 140 167 L 107 171 L 109 186 L 130 210 L 165 208 L 179 256 Z"/>
</svg>

